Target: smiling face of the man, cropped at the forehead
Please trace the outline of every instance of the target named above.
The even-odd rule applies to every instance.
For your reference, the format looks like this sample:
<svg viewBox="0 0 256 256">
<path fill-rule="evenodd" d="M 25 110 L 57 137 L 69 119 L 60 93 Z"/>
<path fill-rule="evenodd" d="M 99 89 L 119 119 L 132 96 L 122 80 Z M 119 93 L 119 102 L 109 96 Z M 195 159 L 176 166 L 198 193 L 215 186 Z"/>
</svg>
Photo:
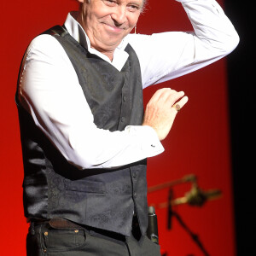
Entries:
<svg viewBox="0 0 256 256">
<path fill-rule="evenodd" d="M 79 0 L 79 22 L 92 48 L 114 50 L 137 24 L 143 0 Z"/>
</svg>

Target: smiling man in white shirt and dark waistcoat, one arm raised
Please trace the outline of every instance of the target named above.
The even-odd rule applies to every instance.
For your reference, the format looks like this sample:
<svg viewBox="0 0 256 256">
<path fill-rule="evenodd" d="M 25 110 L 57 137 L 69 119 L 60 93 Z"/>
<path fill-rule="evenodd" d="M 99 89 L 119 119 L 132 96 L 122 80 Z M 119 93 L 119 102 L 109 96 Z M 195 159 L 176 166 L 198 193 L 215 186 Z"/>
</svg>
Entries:
<svg viewBox="0 0 256 256">
<path fill-rule="evenodd" d="M 181 0 L 194 33 L 130 34 L 143 0 L 78 0 L 35 38 L 20 67 L 27 255 L 160 255 L 146 234 L 146 158 L 188 101 L 143 88 L 195 71 L 236 48 L 214 0 Z"/>
</svg>

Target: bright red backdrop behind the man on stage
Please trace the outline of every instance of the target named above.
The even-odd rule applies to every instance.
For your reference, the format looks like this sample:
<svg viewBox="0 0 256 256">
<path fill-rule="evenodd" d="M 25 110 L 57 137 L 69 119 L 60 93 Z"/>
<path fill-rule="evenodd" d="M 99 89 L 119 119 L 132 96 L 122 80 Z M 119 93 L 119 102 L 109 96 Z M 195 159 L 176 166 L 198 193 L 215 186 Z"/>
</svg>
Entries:
<svg viewBox="0 0 256 256">
<path fill-rule="evenodd" d="M 218 3 L 222 4 L 218 1 Z M 1 3 L 1 255 L 26 254 L 26 219 L 22 208 L 22 159 L 20 132 L 15 108 L 15 86 L 20 60 L 26 46 L 49 26 L 62 24 L 67 12 L 77 9 L 74 0 L 16 0 Z M 180 3 L 149 0 L 148 10 L 137 24 L 137 32 L 188 31 L 189 24 Z M 148 160 L 148 186 L 173 181 L 194 173 L 202 189 L 221 189 L 223 196 L 203 207 L 180 205 L 175 210 L 200 236 L 208 253 L 235 255 L 234 212 L 230 173 L 230 127 L 227 101 L 226 61 L 144 91 L 144 100 L 156 88 L 184 90 L 189 102 L 177 115 L 172 132 L 164 141 L 166 151 Z M 175 197 L 190 185 L 175 186 Z M 148 195 L 150 203 L 167 200 L 168 190 Z M 172 219 L 166 229 L 167 210 L 157 209 L 160 245 L 167 255 L 203 255 L 188 233 Z"/>
</svg>

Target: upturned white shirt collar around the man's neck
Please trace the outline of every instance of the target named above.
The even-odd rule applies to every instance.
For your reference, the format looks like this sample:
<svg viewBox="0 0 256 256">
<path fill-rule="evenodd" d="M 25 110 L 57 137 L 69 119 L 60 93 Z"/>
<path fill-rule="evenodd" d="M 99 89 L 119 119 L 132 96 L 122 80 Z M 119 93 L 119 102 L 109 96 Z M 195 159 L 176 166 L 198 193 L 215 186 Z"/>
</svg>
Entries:
<svg viewBox="0 0 256 256">
<path fill-rule="evenodd" d="M 119 71 L 125 66 L 125 62 L 127 61 L 129 55 L 125 51 L 125 47 L 127 46 L 128 42 L 125 38 L 119 44 L 119 46 L 113 52 L 113 61 L 110 61 L 106 55 L 103 55 L 96 49 L 90 47 L 90 39 L 84 32 L 83 27 L 77 21 L 78 12 L 73 11 L 67 15 L 67 20 L 65 21 L 64 25 L 67 28 L 67 32 L 79 42 L 84 48 L 88 49 L 91 54 L 97 55 L 102 60 L 108 61 L 110 64 L 113 65 Z"/>
</svg>

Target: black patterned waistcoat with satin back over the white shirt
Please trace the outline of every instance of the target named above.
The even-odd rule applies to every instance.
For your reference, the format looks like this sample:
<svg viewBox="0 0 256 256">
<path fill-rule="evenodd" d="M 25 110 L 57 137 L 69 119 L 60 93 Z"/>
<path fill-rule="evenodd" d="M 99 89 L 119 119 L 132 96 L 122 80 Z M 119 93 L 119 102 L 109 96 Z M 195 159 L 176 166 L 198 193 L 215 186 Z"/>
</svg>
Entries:
<svg viewBox="0 0 256 256">
<path fill-rule="evenodd" d="M 90 54 L 60 26 L 47 33 L 60 42 L 72 62 L 98 128 L 122 131 L 126 125 L 142 124 L 140 65 L 130 44 L 125 48 L 129 58 L 119 72 L 107 61 Z M 130 236 L 136 210 L 145 234 L 148 225 L 146 160 L 115 170 L 78 170 L 38 129 L 17 97 L 16 102 L 25 170 L 26 217 L 67 218 Z"/>
</svg>

